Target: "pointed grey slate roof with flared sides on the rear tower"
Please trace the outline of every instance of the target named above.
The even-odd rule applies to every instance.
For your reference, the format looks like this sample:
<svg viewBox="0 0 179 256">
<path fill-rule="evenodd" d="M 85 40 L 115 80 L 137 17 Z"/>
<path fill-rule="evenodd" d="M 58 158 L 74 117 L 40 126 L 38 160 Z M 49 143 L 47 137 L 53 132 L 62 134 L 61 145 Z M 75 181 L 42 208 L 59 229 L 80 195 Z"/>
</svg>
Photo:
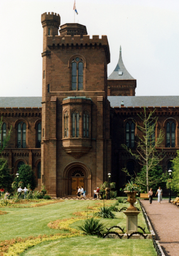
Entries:
<svg viewBox="0 0 179 256">
<path fill-rule="evenodd" d="M 122 61 L 122 52 L 121 52 L 121 46 L 120 46 L 120 52 L 119 52 L 119 61 L 118 64 L 115 68 L 115 70 L 113 71 L 113 73 L 111 73 L 111 75 L 108 77 L 108 79 L 134 79 L 134 77 L 132 77 L 129 73 L 128 70 L 126 70 L 125 65 Z"/>
</svg>

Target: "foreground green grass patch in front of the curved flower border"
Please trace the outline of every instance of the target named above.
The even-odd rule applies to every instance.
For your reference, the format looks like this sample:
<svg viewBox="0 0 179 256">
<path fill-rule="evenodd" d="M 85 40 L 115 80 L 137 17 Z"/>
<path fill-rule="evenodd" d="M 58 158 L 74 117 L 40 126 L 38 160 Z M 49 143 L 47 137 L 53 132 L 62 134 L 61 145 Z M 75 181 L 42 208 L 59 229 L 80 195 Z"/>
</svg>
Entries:
<svg viewBox="0 0 179 256">
<path fill-rule="evenodd" d="M 151 240 L 101 239 L 92 236 L 43 242 L 21 256 L 156 256 Z"/>
</svg>

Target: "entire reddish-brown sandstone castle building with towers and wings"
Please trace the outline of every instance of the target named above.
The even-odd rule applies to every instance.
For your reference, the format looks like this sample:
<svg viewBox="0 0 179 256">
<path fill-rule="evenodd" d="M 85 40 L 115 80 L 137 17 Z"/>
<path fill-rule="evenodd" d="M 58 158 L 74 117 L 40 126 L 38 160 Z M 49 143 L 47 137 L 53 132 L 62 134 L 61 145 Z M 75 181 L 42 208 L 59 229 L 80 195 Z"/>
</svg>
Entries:
<svg viewBox="0 0 179 256">
<path fill-rule="evenodd" d="M 107 36 L 90 39 L 86 27 L 78 23 L 60 26 L 60 16 L 54 13 L 44 13 L 41 21 L 42 98 L 0 98 L 1 141 L 12 126 L 2 153 L 12 173 L 23 163 L 31 165 L 38 189 L 45 185 L 51 196 L 76 195 L 82 185 L 91 196 L 108 172 L 122 186 L 123 167 L 129 172 L 140 169 L 121 144 L 135 149 L 136 134 L 140 136 L 137 125 L 141 125 L 137 114 L 144 106 L 147 111 L 156 109 L 155 137 L 160 129 L 164 131 L 162 166 L 169 169 L 179 145 L 179 96 L 135 96 L 136 79 L 126 70 L 121 49 L 107 78 Z"/>
</svg>

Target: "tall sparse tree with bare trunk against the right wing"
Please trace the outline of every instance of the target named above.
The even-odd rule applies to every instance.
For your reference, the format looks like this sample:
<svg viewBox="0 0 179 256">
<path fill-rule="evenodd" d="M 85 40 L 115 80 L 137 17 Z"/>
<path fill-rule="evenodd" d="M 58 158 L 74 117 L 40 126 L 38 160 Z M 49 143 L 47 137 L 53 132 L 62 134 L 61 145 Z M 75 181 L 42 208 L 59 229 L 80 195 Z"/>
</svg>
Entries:
<svg viewBox="0 0 179 256">
<path fill-rule="evenodd" d="M 155 110 L 147 114 L 146 109 L 144 108 L 144 114 L 138 114 L 143 125 L 137 126 L 139 131 L 142 132 L 142 136 L 137 136 L 136 149 L 131 150 L 131 148 L 128 148 L 127 145 L 122 145 L 122 147 L 125 148 L 132 156 L 134 156 L 138 160 L 139 164 L 143 166 L 142 174 L 139 173 L 136 175 L 135 181 L 141 186 L 145 186 L 145 188 L 147 188 L 147 192 L 149 191 L 151 181 L 153 184 L 158 184 L 162 181 L 160 176 L 154 175 L 154 172 L 156 171 L 156 166 L 159 166 L 159 163 L 164 158 L 163 152 L 156 149 L 161 145 L 164 139 L 164 134 L 160 130 L 158 137 L 155 137 L 157 118 L 156 116 L 153 116 L 154 112 Z M 123 169 L 123 171 L 127 172 L 128 174 L 126 169 Z"/>
</svg>

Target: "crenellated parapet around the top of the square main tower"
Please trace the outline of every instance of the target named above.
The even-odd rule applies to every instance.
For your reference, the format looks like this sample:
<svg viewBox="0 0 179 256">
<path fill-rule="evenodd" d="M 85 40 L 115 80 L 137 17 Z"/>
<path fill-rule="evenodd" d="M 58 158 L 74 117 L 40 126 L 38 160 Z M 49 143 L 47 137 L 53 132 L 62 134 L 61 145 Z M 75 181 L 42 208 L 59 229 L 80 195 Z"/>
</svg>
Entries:
<svg viewBox="0 0 179 256">
<path fill-rule="evenodd" d="M 110 63 L 110 50 L 108 44 L 108 38 L 106 35 L 102 35 L 102 38 L 99 38 L 99 35 L 93 35 L 90 39 L 89 35 L 61 35 L 48 36 L 47 37 L 47 46 L 49 49 L 105 49 L 105 55 L 107 63 Z M 45 56 L 43 54 L 43 56 Z"/>
</svg>

